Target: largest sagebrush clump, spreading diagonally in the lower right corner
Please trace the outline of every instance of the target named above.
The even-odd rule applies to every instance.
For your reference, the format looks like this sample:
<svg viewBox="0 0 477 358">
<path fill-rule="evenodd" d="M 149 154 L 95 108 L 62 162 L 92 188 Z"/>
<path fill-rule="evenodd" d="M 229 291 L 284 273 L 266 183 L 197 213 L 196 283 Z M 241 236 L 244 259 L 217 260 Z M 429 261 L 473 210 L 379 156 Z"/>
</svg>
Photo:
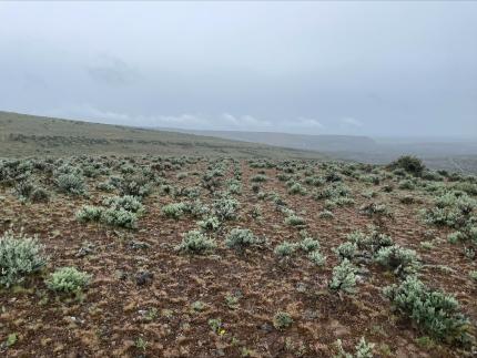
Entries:
<svg viewBox="0 0 477 358">
<path fill-rule="evenodd" d="M 386 287 L 384 294 L 395 309 L 432 337 L 447 342 L 469 341 L 469 321 L 459 313 L 459 304 L 453 296 L 426 287 L 415 276 Z"/>
</svg>

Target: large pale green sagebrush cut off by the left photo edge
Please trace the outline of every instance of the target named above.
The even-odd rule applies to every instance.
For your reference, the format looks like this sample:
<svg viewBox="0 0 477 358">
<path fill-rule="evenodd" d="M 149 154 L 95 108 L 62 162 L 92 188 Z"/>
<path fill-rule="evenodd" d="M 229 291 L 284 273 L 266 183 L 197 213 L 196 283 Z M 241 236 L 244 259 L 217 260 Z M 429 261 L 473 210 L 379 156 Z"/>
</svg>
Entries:
<svg viewBox="0 0 477 358">
<path fill-rule="evenodd" d="M 0 237 L 0 286 L 20 284 L 27 275 L 41 269 L 47 262 L 42 250 L 37 237 L 4 232 Z"/>
</svg>

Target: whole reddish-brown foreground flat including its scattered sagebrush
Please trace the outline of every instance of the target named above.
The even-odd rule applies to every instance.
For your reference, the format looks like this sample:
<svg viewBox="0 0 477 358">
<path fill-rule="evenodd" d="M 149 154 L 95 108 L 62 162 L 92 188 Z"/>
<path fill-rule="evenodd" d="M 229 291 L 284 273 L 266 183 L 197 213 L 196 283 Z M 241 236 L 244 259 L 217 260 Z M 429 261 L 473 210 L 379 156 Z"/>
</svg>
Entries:
<svg viewBox="0 0 477 358">
<path fill-rule="evenodd" d="M 0 161 L 0 354 L 475 356 L 477 180 L 409 168 Z"/>
</svg>

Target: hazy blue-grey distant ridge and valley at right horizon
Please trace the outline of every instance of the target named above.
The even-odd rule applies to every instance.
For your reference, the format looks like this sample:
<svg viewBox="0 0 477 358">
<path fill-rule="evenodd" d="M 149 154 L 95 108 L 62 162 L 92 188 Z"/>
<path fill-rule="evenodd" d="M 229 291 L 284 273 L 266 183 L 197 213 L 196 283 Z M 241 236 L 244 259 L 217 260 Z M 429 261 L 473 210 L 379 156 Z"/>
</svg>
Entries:
<svg viewBox="0 0 477 358">
<path fill-rule="evenodd" d="M 449 139 L 378 139 L 359 135 L 307 135 L 271 132 L 197 131 L 182 133 L 210 135 L 229 140 L 318 151 L 331 157 L 362 163 L 384 164 L 403 154 L 417 155 L 435 170 L 477 173 L 477 137 Z"/>
</svg>

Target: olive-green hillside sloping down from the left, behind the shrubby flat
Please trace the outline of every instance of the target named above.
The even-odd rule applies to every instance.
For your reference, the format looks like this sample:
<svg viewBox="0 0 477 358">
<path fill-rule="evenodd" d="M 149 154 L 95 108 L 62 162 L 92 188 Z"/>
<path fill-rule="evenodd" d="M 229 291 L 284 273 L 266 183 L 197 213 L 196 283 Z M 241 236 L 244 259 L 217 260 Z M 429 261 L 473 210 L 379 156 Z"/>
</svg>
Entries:
<svg viewBox="0 0 477 358">
<path fill-rule="evenodd" d="M 217 137 L 0 112 L 0 157 L 192 152 L 207 156 L 323 157 L 316 152 Z"/>
</svg>

